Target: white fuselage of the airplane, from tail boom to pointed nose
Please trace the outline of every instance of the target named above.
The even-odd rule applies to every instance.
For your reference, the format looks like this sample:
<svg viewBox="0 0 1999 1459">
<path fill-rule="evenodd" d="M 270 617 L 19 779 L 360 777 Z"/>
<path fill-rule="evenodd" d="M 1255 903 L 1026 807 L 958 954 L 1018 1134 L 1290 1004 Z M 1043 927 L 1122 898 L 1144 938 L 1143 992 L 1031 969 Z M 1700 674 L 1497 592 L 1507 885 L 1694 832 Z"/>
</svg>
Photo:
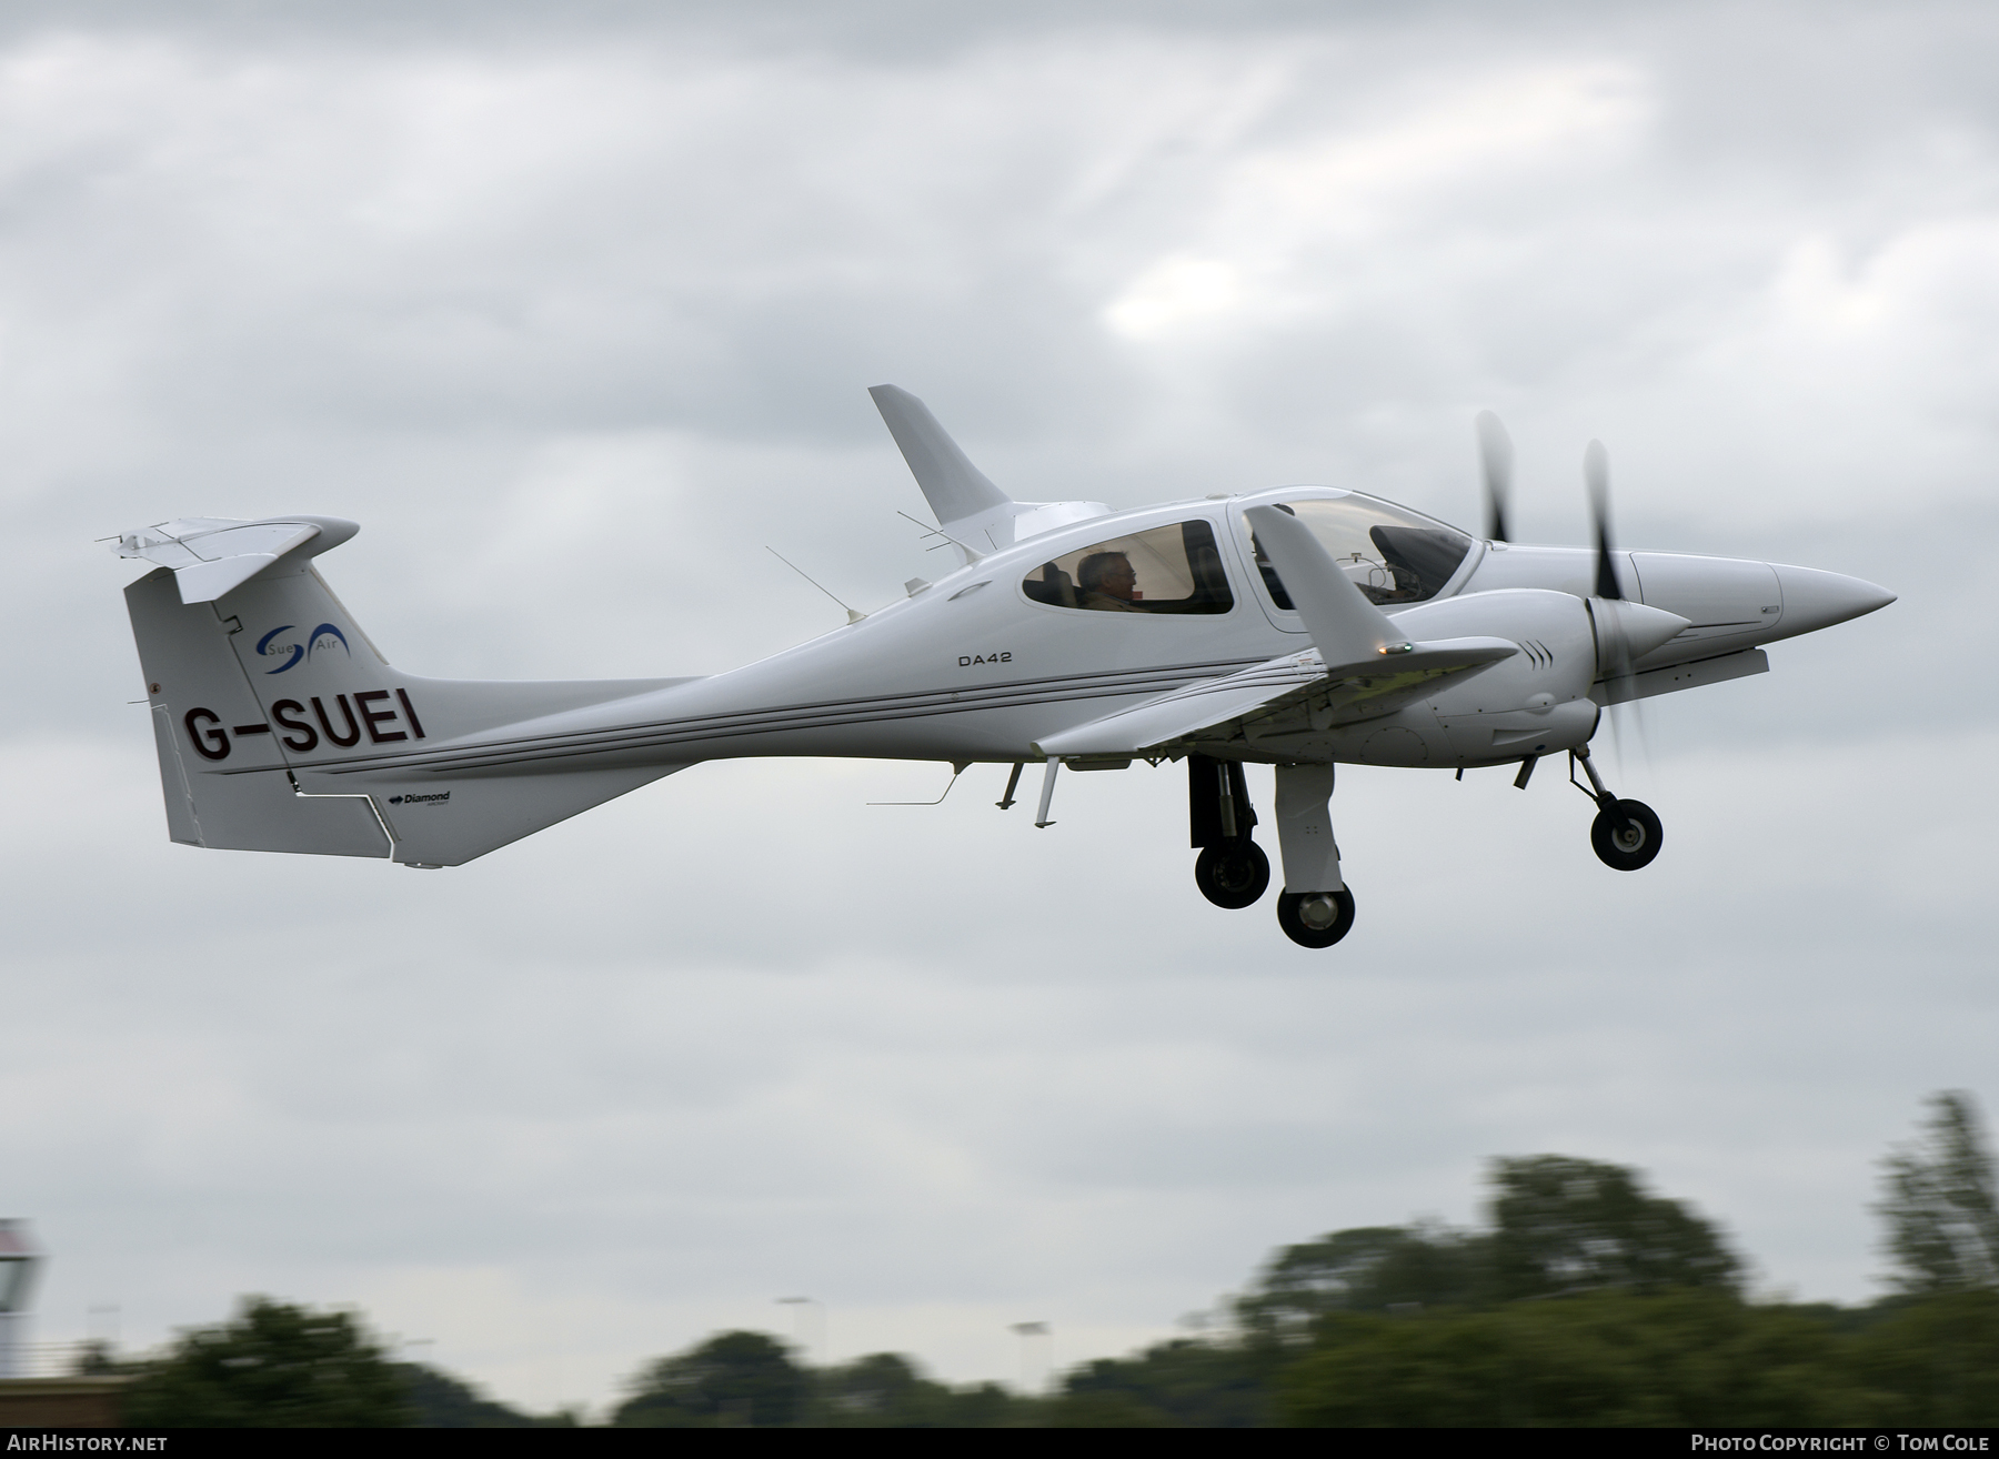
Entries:
<svg viewBox="0 0 1999 1459">
<path fill-rule="evenodd" d="M 1257 564 L 1243 512 L 1257 504 L 1313 502 L 1343 502 L 1345 508 L 1363 510 L 1373 498 L 1297 486 L 1071 522 L 966 562 L 862 622 L 740 670 L 504 730 L 432 737 L 408 753 L 370 755 L 366 771 L 394 767 L 450 777 L 532 773 L 558 763 L 646 765 L 744 755 L 1041 759 L 1039 741 L 1201 680 L 1283 656 L 1297 658 L 1299 682 L 1309 680 L 1315 672 L 1311 640 L 1299 616 L 1281 600 L 1277 580 Z M 1383 520 L 1415 520 L 1391 504 L 1375 506 L 1395 514 Z M 1431 574 L 1427 582 L 1415 570 L 1403 574 L 1403 560 L 1393 554 L 1387 568 L 1369 562 L 1365 552 L 1351 554 L 1351 562 L 1341 566 L 1357 574 L 1357 582 L 1365 582 L 1371 572 L 1371 592 L 1381 594 L 1381 610 L 1391 616 L 1411 614 L 1411 624 L 1471 622 L 1495 614 L 1503 620 L 1501 608 L 1533 608 L 1545 618 L 1551 608 L 1545 594 L 1575 600 L 1591 596 L 1597 568 L 1593 550 L 1493 544 L 1455 534 L 1443 524 L 1431 526 L 1435 532 L 1393 528 L 1431 544 L 1423 548 L 1417 542 L 1407 550 L 1407 560 Z M 1187 596 L 1179 600 L 1155 596 L 1153 602 L 1105 604 L 1095 594 L 1099 602 L 1091 606 L 1091 594 L 1079 592 L 1071 582 L 1073 568 L 1059 566 L 1073 564 L 1077 554 L 1087 562 L 1095 544 L 1163 540 L 1199 544 L 1185 550 L 1189 560 L 1199 558 L 1195 566 L 1165 564 L 1153 570 L 1153 580 L 1169 592 L 1179 592 L 1181 580 L 1189 584 Z M 1449 558 L 1449 552 L 1457 552 L 1453 540 L 1463 544 L 1455 564 Z M 1135 550 L 1119 550 L 1123 556 Z M 1423 552 L 1431 556 L 1425 558 Z M 1857 578 L 1735 558 L 1621 552 L 1613 556 L 1613 568 L 1627 600 L 1689 622 L 1669 644 L 1619 666 L 1625 680 L 1745 656 L 1893 600 Z M 1053 586 L 1057 580 L 1059 592 Z M 1481 596 L 1489 598 L 1475 602 Z M 1593 662 L 1569 664 L 1567 670 L 1559 664 L 1543 666 L 1541 656 L 1551 654 L 1543 644 L 1549 636 L 1505 636 L 1521 640 L 1523 654 L 1515 666 L 1501 666 L 1495 674 L 1567 672 L 1563 682 L 1571 686 L 1569 700 L 1587 696 L 1603 678 Z M 1575 654 L 1561 652 L 1571 658 Z M 1577 684 L 1579 694 L 1573 688 Z M 1643 692 L 1659 690 L 1655 686 Z M 1597 698 L 1603 698 L 1601 690 Z M 1399 714 L 1413 716 L 1409 722 L 1423 737 L 1431 724 L 1449 726 L 1451 704 L 1439 696 L 1437 702 L 1415 704 Z M 1579 731 L 1583 739 L 1591 728 L 1593 710 Z M 1381 759 L 1365 751 L 1361 741 L 1347 745 L 1333 739 L 1313 749 L 1311 757 L 1449 767 L 1495 763 L 1523 753 L 1503 731 L 1481 733 L 1471 745 L 1461 735 L 1439 731 L 1415 757 L 1401 759 Z M 1375 735 L 1375 743 L 1391 741 Z M 1225 753 L 1273 761 L 1297 757 L 1295 749 L 1259 747 L 1251 741 Z"/>
</svg>

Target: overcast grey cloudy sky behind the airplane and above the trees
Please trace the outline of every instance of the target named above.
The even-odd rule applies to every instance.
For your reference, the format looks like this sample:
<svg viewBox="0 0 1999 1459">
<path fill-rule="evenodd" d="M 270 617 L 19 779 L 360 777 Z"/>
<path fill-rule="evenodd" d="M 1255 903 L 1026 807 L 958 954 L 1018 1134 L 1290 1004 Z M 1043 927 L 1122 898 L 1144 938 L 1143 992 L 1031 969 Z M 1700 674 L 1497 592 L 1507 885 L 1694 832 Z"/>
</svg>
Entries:
<svg viewBox="0 0 1999 1459">
<path fill-rule="evenodd" d="M 504 1399 L 720 1327 L 1019 1377 L 1279 1243 L 1639 1165 L 1879 1291 L 1877 1159 L 1991 1109 L 1999 14 L 1973 4 L 14 4 L 0 1215 L 38 1337 L 358 1303 Z M 716 763 L 468 867 L 170 845 L 120 588 L 362 522 L 402 668 L 702 674 L 934 572 L 866 386 L 1029 500 L 1325 482 L 1901 594 L 1543 773 L 1353 769 L 1333 951 L 1191 885 L 1183 773 Z M 1251 787 L 1267 793 L 1267 771 Z M 116 1313 L 92 1309 L 116 1307 Z"/>
</svg>

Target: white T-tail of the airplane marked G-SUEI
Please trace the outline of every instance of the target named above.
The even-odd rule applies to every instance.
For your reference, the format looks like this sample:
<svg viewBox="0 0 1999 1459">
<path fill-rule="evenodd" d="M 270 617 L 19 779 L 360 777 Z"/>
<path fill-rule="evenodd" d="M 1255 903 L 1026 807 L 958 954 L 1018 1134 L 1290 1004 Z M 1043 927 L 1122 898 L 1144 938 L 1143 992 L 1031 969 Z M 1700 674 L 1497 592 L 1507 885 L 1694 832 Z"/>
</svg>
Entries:
<svg viewBox="0 0 1999 1459">
<path fill-rule="evenodd" d="M 402 674 L 312 566 L 356 532 L 338 518 L 186 518 L 118 540 L 120 556 L 158 564 L 126 606 L 172 839 L 458 865 L 686 767 L 434 765 L 436 749 L 504 743 L 682 680 Z"/>
</svg>

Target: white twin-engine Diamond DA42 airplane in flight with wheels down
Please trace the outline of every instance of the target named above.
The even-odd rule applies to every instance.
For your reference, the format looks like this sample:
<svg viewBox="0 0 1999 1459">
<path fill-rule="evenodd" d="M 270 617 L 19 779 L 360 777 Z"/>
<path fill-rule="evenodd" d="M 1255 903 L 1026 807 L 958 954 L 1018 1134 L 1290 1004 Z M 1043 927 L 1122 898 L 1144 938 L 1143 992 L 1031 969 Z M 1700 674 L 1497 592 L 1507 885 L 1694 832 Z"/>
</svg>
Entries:
<svg viewBox="0 0 1999 1459">
<path fill-rule="evenodd" d="M 1337 763 L 1457 769 L 1567 753 L 1611 867 L 1659 817 L 1589 759 L 1607 706 L 1769 668 L 1761 646 L 1895 602 L 1857 578 L 1615 552 L 1603 448 L 1585 452 L 1595 548 L 1505 540 L 1511 446 L 1479 418 L 1483 540 L 1317 486 L 1135 512 L 1013 502 L 916 396 L 874 400 L 960 568 L 730 674 L 510 684 L 390 668 L 312 566 L 338 518 L 188 518 L 116 552 L 172 839 L 240 851 L 470 861 L 578 811 L 736 755 L 1045 765 L 1185 759 L 1195 879 L 1247 907 L 1269 883 L 1243 763 L 1275 765 L 1291 941 L 1353 925 L 1329 797 Z M 1577 781 L 1577 787 L 1581 783 Z"/>
</svg>

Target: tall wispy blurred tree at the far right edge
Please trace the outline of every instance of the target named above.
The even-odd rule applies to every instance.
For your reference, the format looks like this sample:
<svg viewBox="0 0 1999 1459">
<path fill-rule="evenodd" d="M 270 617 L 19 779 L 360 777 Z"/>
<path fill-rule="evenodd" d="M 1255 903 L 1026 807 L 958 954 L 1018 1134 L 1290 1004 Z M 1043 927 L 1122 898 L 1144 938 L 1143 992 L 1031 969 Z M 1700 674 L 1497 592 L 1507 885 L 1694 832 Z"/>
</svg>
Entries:
<svg viewBox="0 0 1999 1459">
<path fill-rule="evenodd" d="M 1911 1293 L 1999 1287 L 1999 1205 L 1993 1157 L 1971 1095 L 1929 1097 L 1925 1139 L 1883 1161 L 1887 1249 L 1895 1285 Z"/>
</svg>

